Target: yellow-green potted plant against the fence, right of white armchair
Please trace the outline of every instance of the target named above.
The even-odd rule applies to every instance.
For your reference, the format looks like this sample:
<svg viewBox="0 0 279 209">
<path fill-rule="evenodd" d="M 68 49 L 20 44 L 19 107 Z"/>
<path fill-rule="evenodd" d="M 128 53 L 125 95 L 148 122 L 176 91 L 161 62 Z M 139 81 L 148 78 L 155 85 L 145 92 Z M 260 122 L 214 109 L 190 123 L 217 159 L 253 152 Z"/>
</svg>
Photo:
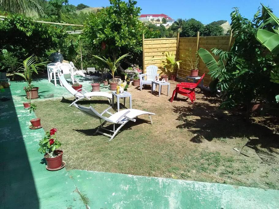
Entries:
<svg viewBox="0 0 279 209">
<path fill-rule="evenodd" d="M 170 52 L 166 52 L 166 61 L 163 61 L 162 64 L 163 67 L 168 71 L 171 80 L 175 80 L 176 73 L 174 72 L 174 69 L 176 66 L 179 69 L 179 62 L 181 62 L 181 60 L 176 61 L 173 52 L 172 54 L 170 54 Z M 165 80 L 168 81 L 167 75 L 161 75 L 161 78 L 165 78 Z"/>
</svg>

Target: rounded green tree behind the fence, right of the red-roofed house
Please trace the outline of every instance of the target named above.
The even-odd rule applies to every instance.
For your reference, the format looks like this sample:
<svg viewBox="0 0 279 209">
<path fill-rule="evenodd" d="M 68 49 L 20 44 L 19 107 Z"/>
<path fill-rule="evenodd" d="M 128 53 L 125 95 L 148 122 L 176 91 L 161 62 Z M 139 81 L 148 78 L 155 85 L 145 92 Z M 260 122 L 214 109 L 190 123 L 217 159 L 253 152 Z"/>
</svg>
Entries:
<svg viewBox="0 0 279 209">
<path fill-rule="evenodd" d="M 198 31 L 203 33 L 204 25 L 194 18 L 188 19 L 182 25 L 181 37 L 195 37 Z"/>
</svg>

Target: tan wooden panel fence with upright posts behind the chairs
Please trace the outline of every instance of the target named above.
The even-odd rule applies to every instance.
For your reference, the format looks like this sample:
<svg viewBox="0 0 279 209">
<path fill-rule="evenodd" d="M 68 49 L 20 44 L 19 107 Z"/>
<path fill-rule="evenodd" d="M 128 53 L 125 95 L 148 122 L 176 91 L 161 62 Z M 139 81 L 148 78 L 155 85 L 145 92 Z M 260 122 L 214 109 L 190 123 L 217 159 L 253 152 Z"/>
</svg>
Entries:
<svg viewBox="0 0 279 209">
<path fill-rule="evenodd" d="M 188 56 L 192 59 L 192 62 L 195 60 L 195 54 L 199 48 L 204 48 L 211 52 L 210 50 L 214 47 L 223 50 L 229 50 L 232 44 L 232 33 L 231 35 L 222 35 L 222 36 L 198 36 L 197 37 L 185 37 L 179 38 L 165 38 L 165 39 L 144 39 L 143 35 L 143 69 L 148 65 L 157 65 L 158 73 L 164 74 L 162 68 L 162 61 L 165 59 L 165 52 L 169 51 L 176 54 L 178 60 L 181 60 L 180 68 L 178 70 L 178 77 L 185 78 L 187 75 L 190 75 L 190 65 Z M 219 57 L 213 57 L 217 60 Z M 209 85 L 210 76 L 207 74 L 209 72 L 208 68 L 199 59 L 198 64 L 199 75 L 201 76 L 205 73 L 204 84 Z"/>
</svg>

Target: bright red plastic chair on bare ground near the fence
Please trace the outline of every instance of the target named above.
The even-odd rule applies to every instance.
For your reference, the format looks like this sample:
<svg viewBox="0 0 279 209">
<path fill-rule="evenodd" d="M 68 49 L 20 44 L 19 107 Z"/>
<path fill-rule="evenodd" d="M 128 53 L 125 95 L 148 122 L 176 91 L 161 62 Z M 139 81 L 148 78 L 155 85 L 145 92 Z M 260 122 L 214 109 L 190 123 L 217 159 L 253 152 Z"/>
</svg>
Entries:
<svg viewBox="0 0 279 209">
<path fill-rule="evenodd" d="M 205 73 L 202 75 L 201 79 L 198 80 L 197 83 L 181 82 L 180 84 L 177 84 L 175 87 L 175 90 L 172 93 L 171 102 L 173 101 L 173 98 L 176 99 L 177 94 L 181 94 L 181 95 L 189 97 L 191 102 L 194 103 L 194 100 L 196 100 L 195 88 L 202 81 L 204 76 L 205 76 Z"/>
</svg>

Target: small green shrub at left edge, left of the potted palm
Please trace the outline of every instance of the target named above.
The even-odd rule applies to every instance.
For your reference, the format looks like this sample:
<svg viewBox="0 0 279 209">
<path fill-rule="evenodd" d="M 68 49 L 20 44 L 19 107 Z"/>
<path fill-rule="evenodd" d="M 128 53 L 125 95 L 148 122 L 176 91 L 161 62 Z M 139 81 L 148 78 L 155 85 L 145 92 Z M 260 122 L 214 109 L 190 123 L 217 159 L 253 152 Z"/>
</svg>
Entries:
<svg viewBox="0 0 279 209">
<path fill-rule="evenodd" d="M 0 72 L 14 72 L 18 66 L 18 59 L 14 53 L 2 50 L 0 55 Z"/>
</svg>

